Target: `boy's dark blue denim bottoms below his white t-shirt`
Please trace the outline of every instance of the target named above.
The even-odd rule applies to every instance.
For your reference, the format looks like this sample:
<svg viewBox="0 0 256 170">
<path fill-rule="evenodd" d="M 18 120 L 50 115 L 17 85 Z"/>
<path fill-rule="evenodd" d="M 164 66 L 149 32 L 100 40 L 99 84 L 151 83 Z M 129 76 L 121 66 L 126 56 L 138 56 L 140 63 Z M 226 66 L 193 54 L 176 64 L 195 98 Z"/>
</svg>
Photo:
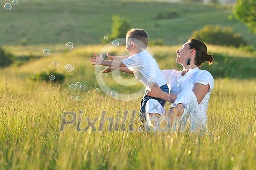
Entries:
<svg viewBox="0 0 256 170">
<path fill-rule="evenodd" d="M 167 84 L 162 85 L 160 87 L 160 89 L 162 89 L 162 91 L 164 91 L 166 93 L 169 93 L 169 88 L 168 88 Z M 145 92 L 143 98 L 141 99 L 140 110 L 139 110 L 139 121 L 141 123 L 146 122 L 146 114 L 145 114 L 146 113 L 146 103 L 151 98 L 157 100 L 163 107 L 166 103 L 165 100 L 160 99 L 160 98 L 150 97 L 150 96 L 146 95 L 146 92 Z"/>
</svg>

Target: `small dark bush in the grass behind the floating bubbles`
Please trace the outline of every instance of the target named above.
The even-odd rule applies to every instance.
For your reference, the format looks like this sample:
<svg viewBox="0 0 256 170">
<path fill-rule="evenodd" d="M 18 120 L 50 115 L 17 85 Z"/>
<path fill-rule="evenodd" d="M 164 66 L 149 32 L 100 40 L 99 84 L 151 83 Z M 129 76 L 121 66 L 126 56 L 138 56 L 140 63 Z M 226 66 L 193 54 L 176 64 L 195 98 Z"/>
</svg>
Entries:
<svg viewBox="0 0 256 170">
<path fill-rule="evenodd" d="M 55 79 L 50 80 L 49 76 L 54 75 Z M 49 70 L 47 72 L 41 72 L 30 78 L 33 81 L 45 81 L 47 83 L 59 83 L 62 84 L 65 80 L 65 75 L 57 73 L 55 70 Z"/>
</svg>

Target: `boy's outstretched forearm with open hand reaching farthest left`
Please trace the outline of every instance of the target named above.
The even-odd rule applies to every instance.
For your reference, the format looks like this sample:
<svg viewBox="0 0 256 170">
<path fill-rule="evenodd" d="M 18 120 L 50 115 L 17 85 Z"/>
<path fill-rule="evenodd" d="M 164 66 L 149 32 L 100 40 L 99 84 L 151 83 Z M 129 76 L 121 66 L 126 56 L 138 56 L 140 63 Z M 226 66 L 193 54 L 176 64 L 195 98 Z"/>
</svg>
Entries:
<svg viewBox="0 0 256 170">
<path fill-rule="evenodd" d="M 100 54 L 100 56 L 98 57 L 98 55 L 94 53 L 94 56 L 95 57 L 91 57 L 91 60 L 90 60 L 92 65 L 104 65 L 104 66 L 117 67 L 117 68 L 126 67 L 122 61 L 104 60 L 102 57 L 102 54 Z"/>
</svg>

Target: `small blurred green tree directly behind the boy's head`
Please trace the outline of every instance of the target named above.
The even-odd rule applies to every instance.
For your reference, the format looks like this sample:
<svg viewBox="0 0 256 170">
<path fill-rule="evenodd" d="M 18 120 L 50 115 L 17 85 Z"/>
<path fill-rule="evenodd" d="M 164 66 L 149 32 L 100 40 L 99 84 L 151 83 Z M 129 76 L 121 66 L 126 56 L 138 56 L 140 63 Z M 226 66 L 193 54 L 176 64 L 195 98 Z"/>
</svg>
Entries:
<svg viewBox="0 0 256 170">
<path fill-rule="evenodd" d="M 127 31 L 131 29 L 130 20 L 125 17 L 113 16 L 112 21 L 113 24 L 111 34 L 107 34 L 108 39 L 103 39 L 103 43 L 108 43 L 117 38 L 124 38 L 126 36 Z"/>
</svg>

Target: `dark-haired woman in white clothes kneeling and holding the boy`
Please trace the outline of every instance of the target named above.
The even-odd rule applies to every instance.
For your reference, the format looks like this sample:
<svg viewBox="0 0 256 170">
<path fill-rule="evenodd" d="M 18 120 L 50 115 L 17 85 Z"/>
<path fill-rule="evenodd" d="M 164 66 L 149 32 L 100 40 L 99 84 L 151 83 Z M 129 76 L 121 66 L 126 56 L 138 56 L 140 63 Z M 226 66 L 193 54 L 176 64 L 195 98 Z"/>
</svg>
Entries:
<svg viewBox="0 0 256 170">
<path fill-rule="evenodd" d="M 176 126 L 178 121 L 183 130 L 188 125 L 191 131 L 205 130 L 206 111 L 214 80 L 208 71 L 199 68 L 206 61 L 209 65 L 212 64 L 213 55 L 207 54 L 206 45 L 198 39 L 189 39 L 176 53 L 176 62 L 183 66 L 183 70 L 163 70 L 171 89 L 170 94 L 163 92 L 157 85 L 151 86 L 151 90 L 147 93 L 151 97 L 171 102 L 172 106 L 165 111 L 158 101 L 148 100 L 147 124 L 161 130 L 159 127 L 161 122 L 173 123 Z"/>
</svg>

